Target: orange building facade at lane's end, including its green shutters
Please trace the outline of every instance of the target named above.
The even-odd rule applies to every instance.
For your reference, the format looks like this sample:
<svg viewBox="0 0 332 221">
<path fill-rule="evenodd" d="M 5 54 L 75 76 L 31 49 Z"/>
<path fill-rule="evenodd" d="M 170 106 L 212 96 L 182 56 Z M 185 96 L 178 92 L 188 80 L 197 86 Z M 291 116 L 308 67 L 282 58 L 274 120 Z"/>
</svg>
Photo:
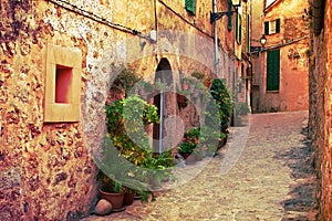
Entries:
<svg viewBox="0 0 332 221">
<path fill-rule="evenodd" d="M 252 33 L 253 112 L 308 109 L 309 24 L 303 19 L 308 1 L 253 2 L 258 13 L 252 29 L 260 30 Z M 262 48 L 263 34 L 267 41 Z"/>
</svg>

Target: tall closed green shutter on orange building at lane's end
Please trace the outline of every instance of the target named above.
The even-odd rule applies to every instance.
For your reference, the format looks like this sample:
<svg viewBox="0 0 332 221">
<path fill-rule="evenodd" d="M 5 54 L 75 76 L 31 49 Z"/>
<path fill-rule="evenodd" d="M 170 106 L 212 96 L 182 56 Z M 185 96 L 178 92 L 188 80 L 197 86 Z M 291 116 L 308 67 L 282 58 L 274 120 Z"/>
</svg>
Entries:
<svg viewBox="0 0 332 221">
<path fill-rule="evenodd" d="M 280 50 L 268 51 L 267 91 L 279 91 Z"/>
</svg>

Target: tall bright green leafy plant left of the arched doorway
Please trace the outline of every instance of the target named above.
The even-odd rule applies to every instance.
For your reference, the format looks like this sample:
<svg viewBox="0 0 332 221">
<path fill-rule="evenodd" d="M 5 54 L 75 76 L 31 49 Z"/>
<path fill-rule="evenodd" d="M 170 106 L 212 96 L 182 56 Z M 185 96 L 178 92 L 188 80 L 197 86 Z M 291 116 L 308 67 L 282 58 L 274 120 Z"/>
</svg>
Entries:
<svg viewBox="0 0 332 221">
<path fill-rule="evenodd" d="M 123 82 L 124 84 L 122 84 Z M 126 86 L 125 80 L 120 81 L 120 86 L 129 88 L 132 82 L 135 81 L 128 81 L 129 85 Z M 166 85 L 157 82 L 156 87 L 163 90 L 166 88 Z M 138 82 L 135 84 L 135 88 L 144 88 L 147 92 L 154 90 L 147 82 Z M 172 171 L 168 169 L 155 169 L 165 166 L 166 160 L 163 161 L 162 158 L 154 157 L 149 146 L 149 137 L 145 131 L 148 124 L 158 123 L 158 109 L 137 94 L 127 95 L 106 104 L 107 136 L 105 146 L 110 143 L 110 148 L 105 148 L 106 152 L 104 155 L 108 157 L 102 162 L 104 170 L 106 168 L 105 173 L 115 178 L 113 180 L 122 182 L 125 193 L 132 194 L 131 197 L 138 194 L 142 201 L 147 201 L 148 196 L 153 194 L 148 180 L 149 175 L 153 175 L 155 170 L 160 170 L 162 172 L 158 172 L 158 175 L 163 173 L 163 177 L 172 176 Z M 172 160 L 174 159 L 172 158 Z M 117 168 L 121 172 L 117 171 Z M 153 171 L 153 173 L 149 173 L 149 171 Z M 124 202 L 123 204 L 131 202 Z"/>
</svg>

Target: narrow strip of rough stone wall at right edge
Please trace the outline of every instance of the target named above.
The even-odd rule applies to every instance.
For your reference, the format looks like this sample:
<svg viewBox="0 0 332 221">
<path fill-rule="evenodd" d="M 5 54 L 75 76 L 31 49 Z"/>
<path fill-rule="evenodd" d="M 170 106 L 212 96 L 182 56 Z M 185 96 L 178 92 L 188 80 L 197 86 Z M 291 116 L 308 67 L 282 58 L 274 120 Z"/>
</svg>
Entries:
<svg viewBox="0 0 332 221">
<path fill-rule="evenodd" d="M 317 150 L 319 220 L 332 219 L 332 1 L 311 0 L 309 131 Z"/>
</svg>

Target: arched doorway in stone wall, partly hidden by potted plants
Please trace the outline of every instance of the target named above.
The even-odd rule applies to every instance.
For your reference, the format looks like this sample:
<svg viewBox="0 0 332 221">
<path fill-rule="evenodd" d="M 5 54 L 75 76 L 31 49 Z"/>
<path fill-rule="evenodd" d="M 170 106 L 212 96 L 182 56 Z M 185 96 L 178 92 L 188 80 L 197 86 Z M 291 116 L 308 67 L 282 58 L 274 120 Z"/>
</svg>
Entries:
<svg viewBox="0 0 332 221">
<path fill-rule="evenodd" d="M 167 59 L 162 59 L 156 73 L 155 85 L 159 88 L 158 94 L 154 97 L 154 105 L 158 107 L 159 124 L 153 126 L 153 148 L 155 152 L 162 154 L 172 147 L 173 129 L 172 120 L 167 117 L 176 115 L 176 93 L 173 93 L 174 80 L 170 64 Z M 162 88 L 158 86 L 162 85 Z M 170 122 L 170 123 L 169 123 Z M 169 123 L 168 125 L 166 125 Z M 174 125 L 176 126 L 176 125 Z M 168 128 L 168 129 L 167 129 Z"/>
</svg>

